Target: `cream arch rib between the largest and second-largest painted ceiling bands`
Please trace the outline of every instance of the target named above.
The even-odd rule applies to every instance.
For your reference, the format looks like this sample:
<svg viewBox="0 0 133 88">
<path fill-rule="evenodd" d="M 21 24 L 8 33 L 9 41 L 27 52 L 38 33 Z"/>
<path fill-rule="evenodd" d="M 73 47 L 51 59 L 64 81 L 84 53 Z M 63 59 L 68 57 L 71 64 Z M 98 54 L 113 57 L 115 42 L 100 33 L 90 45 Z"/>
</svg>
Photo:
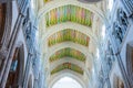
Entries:
<svg viewBox="0 0 133 88">
<path fill-rule="evenodd" d="M 45 29 L 47 31 L 43 34 L 42 38 L 41 38 L 42 40 L 41 44 L 43 44 L 43 42 L 45 42 L 45 40 L 50 35 L 52 35 L 52 34 L 54 34 L 54 33 L 57 33 L 59 31 L 63 31 L 65 29 L 76 30 L 76 31 L 79 31 L 79 32 L 88 35 L 90 37 L 90 40 L 94 44 L 98 44 L 98 40 L 96 40 L 94 33 L 92 32 L 91 28 L 88 28 L 88 26 L 84 26 L 84 25 L 81 25 L 81 24 L 78 24 L 78 23 L 73 23 L 73 22 L 66 22 L 66 23 L 55 24 L 53 26 L 50 26 L 50 28 Z"/>
</svg>

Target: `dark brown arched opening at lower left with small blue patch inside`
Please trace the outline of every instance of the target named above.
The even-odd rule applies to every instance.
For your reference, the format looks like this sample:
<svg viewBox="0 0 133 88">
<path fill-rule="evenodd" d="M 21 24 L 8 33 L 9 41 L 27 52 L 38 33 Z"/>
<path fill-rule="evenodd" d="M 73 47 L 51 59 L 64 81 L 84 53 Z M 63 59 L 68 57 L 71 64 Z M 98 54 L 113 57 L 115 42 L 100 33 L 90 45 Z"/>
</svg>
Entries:
<svg viewBox="0 0 133 88">
<path fill-rule="evenodd" d="M 22 44 L 20 46 L 17 46 L 14 50 L 6 87 L 21 86 L 23 73 L 24 73 L 24 47 Z"/>
</svg>

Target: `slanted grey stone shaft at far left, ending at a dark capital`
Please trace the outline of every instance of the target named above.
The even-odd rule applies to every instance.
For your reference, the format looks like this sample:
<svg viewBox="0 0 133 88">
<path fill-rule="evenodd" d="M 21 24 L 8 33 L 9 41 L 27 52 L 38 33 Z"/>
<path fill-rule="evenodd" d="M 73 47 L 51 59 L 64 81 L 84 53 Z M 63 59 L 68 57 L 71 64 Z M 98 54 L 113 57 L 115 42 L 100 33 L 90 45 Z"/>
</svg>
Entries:
<svg viewBox="0 0 133 88">
<path fill-rule="evenodd" d="M 21 26 L 21 22 L 22 22 L 22 15 L 20 14 L 18 16 L 17 26 L 14 28 L 16 30 L 14 30 L 14 35 L 12 36 L 12 40 L 11 40 L 11 45 L 9 47 L 10 52 L 9 52 L 9 55 L 7 56 L 7 59 L 4 61 L 4 65 L 3 65 L 2 70 L 1 70 L 1 73 L 3 74 L 2 80 L 1 80 L 1 88 L 4 88 L 6 80 L 8 78 L 8 74 L 9 74 L 12 57 L 13 57 L 13 53 L 16 50 L 14 43 L 16 43 L 18 32 L 19 32 L 20 26 Z"/>
</svg>

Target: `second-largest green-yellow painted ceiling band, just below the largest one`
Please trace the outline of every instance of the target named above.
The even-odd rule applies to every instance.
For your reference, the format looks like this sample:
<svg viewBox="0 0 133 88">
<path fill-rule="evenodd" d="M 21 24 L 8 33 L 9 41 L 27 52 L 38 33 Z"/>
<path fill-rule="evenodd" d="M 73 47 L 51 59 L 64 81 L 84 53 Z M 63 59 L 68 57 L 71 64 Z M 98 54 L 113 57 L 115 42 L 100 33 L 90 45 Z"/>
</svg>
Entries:
<svg viewBox="0 0 133 88">
<path fill-rule="evenodd" d="M 89 36 L 71 29 L 65 29 L 63 31 L 57 32 L 48 38 L 48 45 L 52 46 L 62 42 L 73 42 L 80 45 L 89 46 Z"/>
</svg>

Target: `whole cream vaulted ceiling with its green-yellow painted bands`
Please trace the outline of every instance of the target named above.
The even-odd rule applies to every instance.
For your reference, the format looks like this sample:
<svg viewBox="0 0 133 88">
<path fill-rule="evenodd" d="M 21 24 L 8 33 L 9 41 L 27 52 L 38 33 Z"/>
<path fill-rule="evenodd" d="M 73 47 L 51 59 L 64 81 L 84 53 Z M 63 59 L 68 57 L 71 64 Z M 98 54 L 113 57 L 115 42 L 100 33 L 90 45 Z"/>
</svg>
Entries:
<svg viewBox="0 0 133 88">
<path fill-rule="evenodd" d="M 84 80 L 85 74 L 91 74 L 99 46 L 100 19 L 104 16 L 101 3 L 39 0 L 39 6 L 41 58 L 49 70 L 47 75 L 72 70 Z"/>
</svg>

